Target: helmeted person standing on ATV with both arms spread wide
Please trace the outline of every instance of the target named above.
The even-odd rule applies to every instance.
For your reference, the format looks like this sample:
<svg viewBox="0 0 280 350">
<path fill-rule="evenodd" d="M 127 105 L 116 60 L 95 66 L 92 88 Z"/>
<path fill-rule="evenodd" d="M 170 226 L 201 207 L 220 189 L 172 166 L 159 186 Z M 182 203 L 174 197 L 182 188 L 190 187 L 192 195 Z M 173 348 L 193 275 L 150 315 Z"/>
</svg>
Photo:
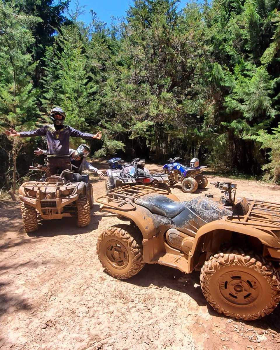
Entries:
<svg viewBox="0 0 280 350">
<path fill-rule="evenodd" d="M 7 136 L 11 137 L 36 137 L 45 136 L 48 144 L 49 155 L 68 155 L 69 154 L 69 139 L 71 137 L 81 137 L 83 139 L 98 139 L 102 137 L 102 132 L 97 134 L 84 133 L 76 130 L 69 125 L 64 125 L 66 118 L 65 112 L 60 107 L 55 107 L 50 111 L 50 118 L 53 122 L 52 125 L 45 125 L 39 129 L 33 131 L 17 132 L 10 128 L 6 130 Z M 52 159 L 51 163 L 48 162 L 47 166 L 50 169 L 51 174 L 55 174 L 57 169 L 71 169 L 69 157 Z"/>
</svg>

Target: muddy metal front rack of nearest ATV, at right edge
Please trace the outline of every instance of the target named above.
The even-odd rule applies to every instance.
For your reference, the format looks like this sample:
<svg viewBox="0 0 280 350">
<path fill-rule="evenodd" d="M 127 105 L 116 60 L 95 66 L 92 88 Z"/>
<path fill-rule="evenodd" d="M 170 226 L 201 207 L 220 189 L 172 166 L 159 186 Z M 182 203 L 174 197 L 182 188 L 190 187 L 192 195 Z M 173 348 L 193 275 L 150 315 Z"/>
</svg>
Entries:
<svg viewBox="0 0 280 350">
<path fill-rule="evenodd" d="M 246 215 L 232 215 L 225 221 L 235 224 L 262 226 L 267 228 L 280 228 L 280 204 L 275 202 L 264 202 L 248 200 L 249 210 Z"/>
</svg>

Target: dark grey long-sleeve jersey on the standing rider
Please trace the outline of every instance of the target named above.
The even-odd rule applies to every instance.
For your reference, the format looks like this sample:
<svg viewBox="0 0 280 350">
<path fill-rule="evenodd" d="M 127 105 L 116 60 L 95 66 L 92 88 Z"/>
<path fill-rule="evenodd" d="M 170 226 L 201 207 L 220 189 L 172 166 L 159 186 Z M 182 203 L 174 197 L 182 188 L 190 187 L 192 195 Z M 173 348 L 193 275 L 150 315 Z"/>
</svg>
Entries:
<svg viewBox="0 0 280 350">
<path fill-rule="evenodd" d="M 83 139 L 93 138 L 93 134 L 76 130 L 68 125 L 65 125 L 61 130 L 55 130 L 54 125 L 45 125 L 37 130 L 20 132 L 20 137 L 36 136 L 45 136 L 47 138 L 48 154 L 68 154 L 70 136 Z"/>
</svg>

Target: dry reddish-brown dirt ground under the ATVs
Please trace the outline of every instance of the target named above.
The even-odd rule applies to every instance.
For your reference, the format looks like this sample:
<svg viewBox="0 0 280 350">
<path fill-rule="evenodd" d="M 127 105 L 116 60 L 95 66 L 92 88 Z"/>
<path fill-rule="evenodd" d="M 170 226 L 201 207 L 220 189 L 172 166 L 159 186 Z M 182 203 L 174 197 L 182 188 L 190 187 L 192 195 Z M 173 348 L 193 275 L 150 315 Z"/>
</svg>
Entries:
<svg viewBox="0 0 280 350">
<path fill-rule="evenodd" d="M 95 197 L 102 195 L 105 179 L 91 180 Z M 279 202 L 279 186 L 233 182 L 239 196 Z M 195 194 L 172 193 L 180 200 L 220 195 L 210 184 Z M 280 307 L 254 322 L 222 317 L 205 301 L 199 272 L 146 264 L 125 281 L 104 273 L 97 237 L 120 221 L 96 203 L 83 229 L 65 218 L 42 222 L 28 237 L 19 205 L 2 208 L 0 223 L 1 350 L 280 349 Z"/>
</svg>

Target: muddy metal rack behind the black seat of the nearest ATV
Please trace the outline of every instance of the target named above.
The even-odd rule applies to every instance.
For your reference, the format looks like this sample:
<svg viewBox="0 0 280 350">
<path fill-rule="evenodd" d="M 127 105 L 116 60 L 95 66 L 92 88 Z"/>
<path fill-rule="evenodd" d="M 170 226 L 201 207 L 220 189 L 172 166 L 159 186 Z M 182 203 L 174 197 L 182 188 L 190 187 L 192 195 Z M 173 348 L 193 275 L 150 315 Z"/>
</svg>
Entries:
<svg viewBox="0 0 280 350">
<path fill-rule="evenodd" d="M 96 199 L 96 202 L 103 204 L 106 207 L 115 208 L 122 211 L 130 211 L 130 210 L 136 209 L 134 201 L 137 198 L 144 195 L 155 194 L 155 193 L 160 195 L 169 194 L 167 190 L 154 188 L 151 186 L 126 185 L 126 186 L 117 187 L 108 191 L 105 196 L 98 197 Z"/>
</svg>

